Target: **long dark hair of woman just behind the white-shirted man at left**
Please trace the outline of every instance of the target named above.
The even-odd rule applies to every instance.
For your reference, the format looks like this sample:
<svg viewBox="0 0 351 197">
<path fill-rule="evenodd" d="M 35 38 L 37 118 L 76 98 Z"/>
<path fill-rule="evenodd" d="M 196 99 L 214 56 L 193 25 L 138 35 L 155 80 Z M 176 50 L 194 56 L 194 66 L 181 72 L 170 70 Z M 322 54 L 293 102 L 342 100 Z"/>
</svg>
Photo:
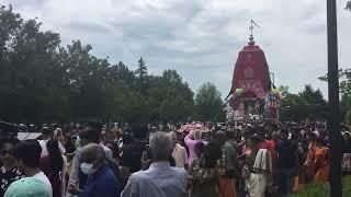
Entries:
<svg viewBox="0 0 351 197">
<path fill-rule="evenodd" d="M 48 159 L 49 159 L 49 169 L 52 173 L 59 173 L 64 166 L 64 158 L 58 148 L 57 140 L 48 140 L 46 143 Z"/>
</svg>

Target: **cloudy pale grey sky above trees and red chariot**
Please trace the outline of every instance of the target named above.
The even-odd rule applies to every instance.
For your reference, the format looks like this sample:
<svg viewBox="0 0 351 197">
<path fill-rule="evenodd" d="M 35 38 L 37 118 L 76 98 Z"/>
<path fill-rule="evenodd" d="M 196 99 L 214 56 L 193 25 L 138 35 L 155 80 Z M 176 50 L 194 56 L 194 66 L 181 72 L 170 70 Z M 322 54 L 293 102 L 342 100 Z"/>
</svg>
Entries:
<svg viewBox="0 0 351 197">
<path fill-rule="evenodd" d="M 351 67 L 351 12 L 338 1 L 339 66 Z M 93 54 L 135 69 L 140 56 L 149 72 L 176 69 L 193 91 L 214 82 L 226 96 L 248 26 L 264 50 L 276 85 L 298 92 L 327 71 L 325 0 L 0 0 L 25 19 L 38 18 L 43 30 L 63 45 L 81 39 Z"/>
</svg>

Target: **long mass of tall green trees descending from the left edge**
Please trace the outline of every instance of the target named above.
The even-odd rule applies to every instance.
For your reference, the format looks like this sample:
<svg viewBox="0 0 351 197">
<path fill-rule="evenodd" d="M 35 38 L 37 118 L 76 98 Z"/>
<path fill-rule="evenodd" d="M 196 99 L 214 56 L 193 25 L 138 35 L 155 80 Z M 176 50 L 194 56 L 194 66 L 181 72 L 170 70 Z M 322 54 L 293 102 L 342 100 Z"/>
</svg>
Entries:
<svg viewBox="0 0 351 197">
<path fill-rule="evenodd" d="M 79 39 L 60 46 L 0 7 L 0 119 L 14 123 L 181 121 L 193 114 L 194 94 L 176 70 L 151 76 L 143 57 L 133 71 L 91 54 Z"/>
</svg>

